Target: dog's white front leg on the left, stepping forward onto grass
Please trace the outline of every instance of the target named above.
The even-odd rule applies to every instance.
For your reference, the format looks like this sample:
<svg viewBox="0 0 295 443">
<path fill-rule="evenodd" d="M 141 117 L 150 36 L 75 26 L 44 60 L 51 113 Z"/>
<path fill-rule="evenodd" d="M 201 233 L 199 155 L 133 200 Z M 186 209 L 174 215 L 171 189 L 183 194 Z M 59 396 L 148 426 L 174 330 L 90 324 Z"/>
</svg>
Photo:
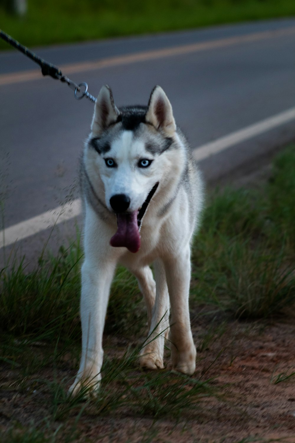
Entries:
<svg viewBox="0 0 295 443">
<path fill-rule="evenodd" d="M 99 388 L 103 363 L 103 327 L 115 263 L 102 260 L 90 263 L 87 259 L 81 269 L 82 290 L 80 316 L 82 326 L 82 355 L 77 377 L 69 391 L 77 393 L 84 385 L 88 391 Z"/>
</svg>

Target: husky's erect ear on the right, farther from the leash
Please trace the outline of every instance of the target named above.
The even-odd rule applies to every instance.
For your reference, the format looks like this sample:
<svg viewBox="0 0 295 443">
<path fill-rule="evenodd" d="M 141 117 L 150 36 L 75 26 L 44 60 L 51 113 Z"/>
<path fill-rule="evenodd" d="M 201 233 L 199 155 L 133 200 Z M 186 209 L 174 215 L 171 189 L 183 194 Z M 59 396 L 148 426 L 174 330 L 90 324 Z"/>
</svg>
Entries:
<svg viewBox="0 0 295 443">
<path fill-rule="evenodd" d="M 172 106 L 161 86 L 155 86 L 150 94 L 146 121 L 168 136 L 176 131 Z"/>
</svg>

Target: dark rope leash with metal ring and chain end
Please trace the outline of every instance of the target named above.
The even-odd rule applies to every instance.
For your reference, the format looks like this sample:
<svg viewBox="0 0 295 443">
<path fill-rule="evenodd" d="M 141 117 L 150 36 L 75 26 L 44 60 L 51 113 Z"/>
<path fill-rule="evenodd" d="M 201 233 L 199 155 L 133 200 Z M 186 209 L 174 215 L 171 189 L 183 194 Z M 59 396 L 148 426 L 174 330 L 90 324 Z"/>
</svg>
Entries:
<svg viewBox="0 0 295 443">
<path fill-rule="evenodd" d="M 63 75 L 61 70 L 57 68 L 57 66 L 54 66 L 53 64 L 46 62 L 43 58 L 38 57 L 38 55 L 36 55 L 33 51 L 30 51 L 30 49 L 20 44 L 17 40 L 13 39 L 10 35 L 6 34 L 6 32 L 2 31 L 1 29 L 0 37 L 6 43 L 9 43 L 11 46 L 15 47 L 15 49 L 27 55 L 27 57 L 31 58 L 33 62 L 38 63 L 44 76 L 50 75 L 50 77 L 54 78 L 55 80 L 60 80 L 61 82 L 66 83 L 71 89 L 73 89 L 73 91 L 75 91 L 74 96 L 77 100 L 81 100 L 81 98 L 86 97 L 93 103 L 96 102 L 96 98 L 88 92 L 87 83 L 82 82 L 77 85 L 75 82 Z"/>
</svg>

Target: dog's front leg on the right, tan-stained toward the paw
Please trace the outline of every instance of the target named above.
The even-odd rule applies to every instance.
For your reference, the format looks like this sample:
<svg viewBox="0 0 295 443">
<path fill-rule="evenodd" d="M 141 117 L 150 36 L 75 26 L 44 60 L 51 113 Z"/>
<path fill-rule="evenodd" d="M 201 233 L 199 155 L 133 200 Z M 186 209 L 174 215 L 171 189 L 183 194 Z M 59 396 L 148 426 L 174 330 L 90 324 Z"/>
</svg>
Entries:
<svg viewBox="0 0 295 443">
<path fill-rule="evenodd" d="M 169 340 L 172 366 L 184 374 L 192 374 L 195 371 L 196 349 L 188 309 L 191 278 L 189 246 L 178 256 L 165 261 L 165 271 L 171 306 Z"/>
</svg>

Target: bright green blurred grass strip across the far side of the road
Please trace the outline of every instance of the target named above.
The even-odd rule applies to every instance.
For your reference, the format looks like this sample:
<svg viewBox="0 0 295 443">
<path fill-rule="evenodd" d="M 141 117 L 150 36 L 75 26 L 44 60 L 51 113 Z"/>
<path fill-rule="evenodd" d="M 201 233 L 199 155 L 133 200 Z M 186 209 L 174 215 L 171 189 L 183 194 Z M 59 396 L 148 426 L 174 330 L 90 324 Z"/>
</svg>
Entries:
<svg viewBox="0 0 295 443">
<path fill-rule="evenodd" d="M 1 29 L 27 46 L 295 15 L 291 0 L 28 0 L 24 18 L 9 15 L 3 4 L 0 1 Z M 0 42 L 0 48 L 8 45 Z"/>
</svg>

